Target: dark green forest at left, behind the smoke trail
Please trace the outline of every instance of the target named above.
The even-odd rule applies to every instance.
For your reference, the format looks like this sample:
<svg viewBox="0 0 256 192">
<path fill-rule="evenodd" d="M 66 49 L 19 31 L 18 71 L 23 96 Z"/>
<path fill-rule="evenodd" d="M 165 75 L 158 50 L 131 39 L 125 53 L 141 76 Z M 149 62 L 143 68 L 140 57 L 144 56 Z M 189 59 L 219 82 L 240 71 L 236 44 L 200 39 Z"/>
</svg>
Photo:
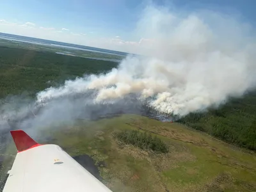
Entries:
<svg viewBox="0 0 256 192">
<path fill-rule="evenodd" d="M 24 90 L 33 97 L 36 92 L 61 84 L 66 79 L 105 73 L 117 65 L 113 61 L 0 47 L 0 98 Z"/>
</svg>

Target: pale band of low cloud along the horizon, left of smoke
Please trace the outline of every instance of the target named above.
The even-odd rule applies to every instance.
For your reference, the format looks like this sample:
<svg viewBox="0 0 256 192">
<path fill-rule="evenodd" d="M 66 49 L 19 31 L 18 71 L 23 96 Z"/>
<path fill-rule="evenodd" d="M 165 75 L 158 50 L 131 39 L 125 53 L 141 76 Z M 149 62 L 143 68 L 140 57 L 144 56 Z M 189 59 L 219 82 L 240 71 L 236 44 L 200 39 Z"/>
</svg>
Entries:
<svg viewBox="0 0 256 192">
<path fill-rule="evenodd" d="M 68 29 L 62 28 L 61 30 L 57 30 L 55 28 L 46 28 L 44 26 L 37 27 L 36 24 L 32 24 L 30 22 L 15 24 L 1 19 L 0 25 L 1 32 L 3 33 L 45 38 L 48 40 L 89 45 L 117 51 L 134 52 L 138 47 L 146 45 L 146 43 L 150 44 L 150 40 L 145 38 L 142 38 L 138 42 L 125 41 L 122 40 L 120 36 L 115 36 L 115 38 L 92 38 L 92 36 L 87 36 L 86 33 L 74 33 L 72 31 L 70 33 L 64 33 Z M 89 31 L 88 33 L 94 33 L 94 31 Z"/>
</svg>

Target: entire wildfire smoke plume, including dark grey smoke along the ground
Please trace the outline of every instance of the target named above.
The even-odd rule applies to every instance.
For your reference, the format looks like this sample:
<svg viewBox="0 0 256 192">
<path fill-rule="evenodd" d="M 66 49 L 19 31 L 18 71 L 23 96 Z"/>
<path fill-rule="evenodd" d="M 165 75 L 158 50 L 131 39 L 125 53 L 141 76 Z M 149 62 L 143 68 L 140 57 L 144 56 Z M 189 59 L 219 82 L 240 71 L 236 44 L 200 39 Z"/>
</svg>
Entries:
<svg viewBox="0 0 256 192">
<path fill-rule="evenodd" d="M 255 87 L 252 32 L 221 13 L 148 6 L 135 30 L 141 40 L 127 45 L 136 55 L 108 74 L 77 77 L 39 92 L 35 101 L 18 100 L 22 105 L 12 105 L 14 111 L 3 104 L 0 128 L 35 130 L 120 113 L 184 116 L 218 107 Z"/>
</svg>

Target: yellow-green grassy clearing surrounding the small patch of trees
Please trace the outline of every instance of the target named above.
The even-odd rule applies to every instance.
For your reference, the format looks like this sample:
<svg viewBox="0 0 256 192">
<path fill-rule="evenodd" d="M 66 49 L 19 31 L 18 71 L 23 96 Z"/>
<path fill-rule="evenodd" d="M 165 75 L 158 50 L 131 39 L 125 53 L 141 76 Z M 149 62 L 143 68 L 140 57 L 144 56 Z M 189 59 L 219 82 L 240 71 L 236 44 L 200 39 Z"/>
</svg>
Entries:
<svg viewBox="0 0 256 192">
<path fill-rule="evenodd" d="M 139 130 L 161 138 L 169 152 L 125 145 L 115 132 Z M 204 132 L 138 115 L 79 121 L 42 132 L 71 156 L 90 155 L 113 191 L 256 191 L 256 156 Z M 42 139 L 41 142 L 45 142 Z M 13 145 L 13 144 L 12 144 Z"/>
</svg>

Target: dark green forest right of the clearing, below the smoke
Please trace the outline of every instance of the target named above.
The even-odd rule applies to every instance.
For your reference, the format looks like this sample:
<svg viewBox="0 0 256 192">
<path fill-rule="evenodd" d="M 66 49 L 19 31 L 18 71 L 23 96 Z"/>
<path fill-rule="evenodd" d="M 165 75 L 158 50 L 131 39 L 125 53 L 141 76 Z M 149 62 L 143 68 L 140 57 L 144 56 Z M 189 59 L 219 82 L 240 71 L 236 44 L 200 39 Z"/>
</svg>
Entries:
<svg viewBox="0 0 256 192">
<path fill-rule="evenodd" d="M 256 150 L 256 92 L 230 99 L 218 109 L 190 113 L 178 122 L 240 147 Z"/>
</svg>

